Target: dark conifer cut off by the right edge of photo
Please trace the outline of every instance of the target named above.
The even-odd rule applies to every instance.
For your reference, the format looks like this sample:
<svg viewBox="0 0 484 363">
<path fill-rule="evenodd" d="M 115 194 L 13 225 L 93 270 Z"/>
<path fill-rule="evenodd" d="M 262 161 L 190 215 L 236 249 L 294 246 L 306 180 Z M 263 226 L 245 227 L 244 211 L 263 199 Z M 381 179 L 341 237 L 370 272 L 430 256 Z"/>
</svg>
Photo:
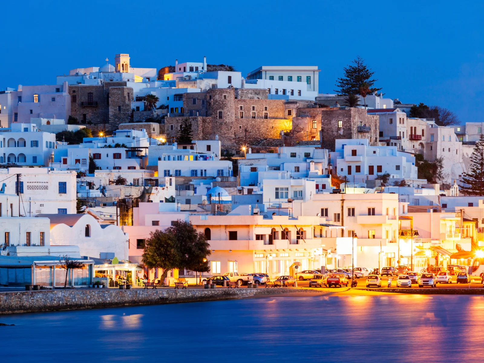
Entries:
<svg viewBox="0 0 484 363">
<path fill-rule="evenodd" d="M 464 173 L 460 190 L 470 196 L 484 196 L 484 135 L 476 142 L 474 151 L 470 155 L 470 172 Z"/>
</svg>

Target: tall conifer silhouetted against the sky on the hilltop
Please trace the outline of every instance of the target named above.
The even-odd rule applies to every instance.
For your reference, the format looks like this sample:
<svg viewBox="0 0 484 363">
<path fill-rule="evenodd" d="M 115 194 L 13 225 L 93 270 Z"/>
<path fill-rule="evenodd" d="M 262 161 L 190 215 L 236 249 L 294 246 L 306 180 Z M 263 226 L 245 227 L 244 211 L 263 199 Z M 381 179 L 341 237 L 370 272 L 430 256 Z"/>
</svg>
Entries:
<svg viewBox="0 0 484 363">
<path fill-rule="evenodd" d="M 348 67 L 343 68 L 345 75 L 342 78 L 338 78 L 336 87 L 339 87 L 339 90 L 334 90 L 338 92 L 341 96 L 348 96 L 349 94 L 361 94 L 360 87 L 363 86 L 363 83 L 366 83 L 369 92 L 376 92 L 381 90 L 381 88 L 375 88 L 373 85 L 375 84 L 378 79 L 371 79 L 371 77 L 375 74 L 369 69 L 364 59 L 360 56 L 356 57 L 354 61 L 352 61 L 353 65 L 348 65 Z"/>
</svg>

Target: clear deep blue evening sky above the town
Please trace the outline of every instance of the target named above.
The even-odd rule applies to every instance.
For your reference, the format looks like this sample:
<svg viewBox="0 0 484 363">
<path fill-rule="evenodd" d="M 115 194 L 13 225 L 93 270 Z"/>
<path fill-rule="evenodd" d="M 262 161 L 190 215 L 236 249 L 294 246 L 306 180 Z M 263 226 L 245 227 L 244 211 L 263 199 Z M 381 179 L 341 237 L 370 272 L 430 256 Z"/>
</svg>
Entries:
<svg viewBox="0 0 484 363">
<path fill-rule="evenodd" d="M 318 65 L 326 93 L 360 55 L 387 97 L 482 121 L 483 10 L 481 1 L 4 1 L 0 90 L 54 84 L 129 53 L 132 66 L 158 69 L 205 55 L 243 76 Z"/>
</svg>

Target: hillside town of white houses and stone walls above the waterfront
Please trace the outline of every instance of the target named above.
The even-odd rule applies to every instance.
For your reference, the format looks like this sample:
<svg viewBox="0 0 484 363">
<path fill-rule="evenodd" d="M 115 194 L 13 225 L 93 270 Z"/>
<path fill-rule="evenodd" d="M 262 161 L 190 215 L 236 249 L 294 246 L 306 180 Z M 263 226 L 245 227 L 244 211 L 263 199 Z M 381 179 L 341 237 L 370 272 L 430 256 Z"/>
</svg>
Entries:
<svg viewBox="0 0 484 363">
<path fill-rule="evenodd" d="M 484 122 L 387 96 L 359 57 L 338 91 L 209 61 L 120 53 L 0 91 L 0 286 L 481 281 Z"/>
</svg>

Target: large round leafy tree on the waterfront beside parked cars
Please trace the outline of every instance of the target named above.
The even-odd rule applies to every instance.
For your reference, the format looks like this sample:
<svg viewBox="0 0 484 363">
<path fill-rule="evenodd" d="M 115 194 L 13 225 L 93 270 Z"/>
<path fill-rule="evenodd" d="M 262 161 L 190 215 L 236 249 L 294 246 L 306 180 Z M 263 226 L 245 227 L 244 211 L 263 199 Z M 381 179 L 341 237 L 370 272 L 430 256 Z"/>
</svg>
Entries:
<svg viewBox="0 0 484 363">
<path fill-rule="evenodd" d="M 209 272 L 210 245 L 203 233 L 197 232 L 189 222 L 176 221 L 164 231 L 155 230 L 145 242 L 143 263 L 149 267 L 165 269 L 160 277 L 163 281 L 168 271 L 186 268 L 192 271 Z"/>
</svg>

